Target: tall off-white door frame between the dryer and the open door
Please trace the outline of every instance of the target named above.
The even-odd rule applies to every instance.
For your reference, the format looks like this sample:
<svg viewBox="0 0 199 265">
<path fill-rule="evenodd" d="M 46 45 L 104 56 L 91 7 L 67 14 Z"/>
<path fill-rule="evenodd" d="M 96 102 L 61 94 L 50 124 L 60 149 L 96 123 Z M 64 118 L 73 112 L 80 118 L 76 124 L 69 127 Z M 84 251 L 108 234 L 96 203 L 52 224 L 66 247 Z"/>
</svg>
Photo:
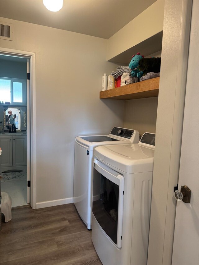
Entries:
<svg viewBox="0 0 199 265">
<path fill-rule="evenodd" d="M 191 16 L 192 1 L 165 0 L 147 265 L 172 260 Z"/>
</svg>

